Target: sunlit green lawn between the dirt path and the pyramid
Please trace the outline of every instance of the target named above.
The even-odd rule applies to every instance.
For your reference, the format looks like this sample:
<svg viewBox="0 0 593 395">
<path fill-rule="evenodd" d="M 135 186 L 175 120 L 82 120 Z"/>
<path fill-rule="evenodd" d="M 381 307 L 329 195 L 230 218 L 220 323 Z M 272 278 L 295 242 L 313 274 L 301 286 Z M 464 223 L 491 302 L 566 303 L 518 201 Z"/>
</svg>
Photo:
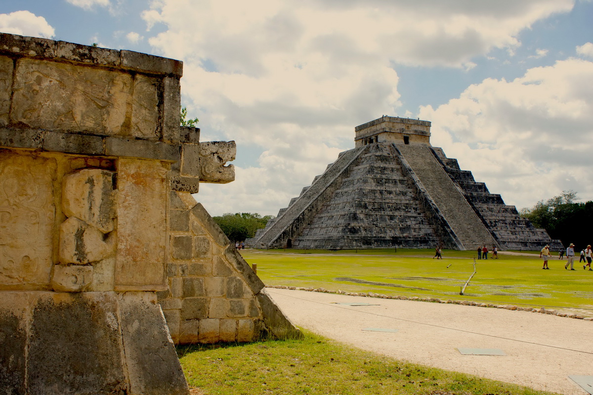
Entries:
<svg viewBox="0 0 593 395">
<path fill-rule="evenodd" d="M 593 315 L 593 272 L 554 257 L 550 270 L 542 270 L 538 253 L 532 256 L 499 254 L 499 259 L 476 261 L 476 274 L 460 296 L 461 286 L 474 271 L 473 251 L 398 249 L 244 250 L 246 261 L 257 264 L 266 285 L 323 287 L 328 290 L 374 292 L 408 297 L 468 299 L 495 304 L 575 309 Z"/>
</svg>

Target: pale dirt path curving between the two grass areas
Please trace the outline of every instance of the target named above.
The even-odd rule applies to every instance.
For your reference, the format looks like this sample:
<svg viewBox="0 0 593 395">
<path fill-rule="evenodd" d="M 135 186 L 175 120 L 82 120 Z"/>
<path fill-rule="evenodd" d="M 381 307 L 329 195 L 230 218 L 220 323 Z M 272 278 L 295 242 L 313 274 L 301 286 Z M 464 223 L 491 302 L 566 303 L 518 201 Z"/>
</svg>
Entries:
<svg viewBox="0 0 593 395">
<path fill-rule="evenodd" d="M 568 375 L 593 375 L 593 322 L 458 304 L 267 292 L 295 325 L 389 357 L 565 395 L 586 394 Z M 462 355 L 458 347 L 506 355 Z"/>
</svg>

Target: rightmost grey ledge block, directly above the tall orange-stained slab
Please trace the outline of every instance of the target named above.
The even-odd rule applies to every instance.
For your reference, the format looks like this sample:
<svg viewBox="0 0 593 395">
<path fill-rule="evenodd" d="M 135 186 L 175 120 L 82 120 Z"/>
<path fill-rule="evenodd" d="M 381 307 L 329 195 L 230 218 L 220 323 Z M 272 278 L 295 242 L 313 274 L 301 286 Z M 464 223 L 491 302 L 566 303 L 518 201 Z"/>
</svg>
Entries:
<svg viewBox="0 0 593 395">
<path fill-rule="evenodd" d="M 162 142 L 106 137 L 105 155 L 177 162 L 179 149 L 177 146 Z"/>
</svg>

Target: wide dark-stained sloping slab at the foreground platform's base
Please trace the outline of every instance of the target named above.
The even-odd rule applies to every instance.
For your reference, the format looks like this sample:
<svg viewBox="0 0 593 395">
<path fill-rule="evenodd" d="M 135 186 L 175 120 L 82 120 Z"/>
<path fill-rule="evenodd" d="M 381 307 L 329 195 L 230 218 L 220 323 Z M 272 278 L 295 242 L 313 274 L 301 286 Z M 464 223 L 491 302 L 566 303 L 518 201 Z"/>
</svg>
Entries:
<svg viewBox="0 0 593 395">
<path fill-rule="evenodd" d="M 43 293 L 32 310 L 28 393 L 108 395 L 127 389 L 115 293 Z"/>
</svg>

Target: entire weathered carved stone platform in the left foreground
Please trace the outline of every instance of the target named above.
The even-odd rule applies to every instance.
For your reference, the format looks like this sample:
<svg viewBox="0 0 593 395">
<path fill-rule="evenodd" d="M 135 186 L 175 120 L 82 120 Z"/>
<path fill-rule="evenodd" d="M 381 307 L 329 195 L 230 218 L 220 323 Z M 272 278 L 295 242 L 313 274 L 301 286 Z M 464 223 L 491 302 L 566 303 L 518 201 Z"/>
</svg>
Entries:
<svg viewBox="0 0 593 395">
<path fill-rule="evenodd" d="M 181 62 L 0 34 L 0 65 L 0 393 L 187 394 L 171 335 L 299 335 L 190 195 L 236 149 L 179 126 Z"/>
</svg>

